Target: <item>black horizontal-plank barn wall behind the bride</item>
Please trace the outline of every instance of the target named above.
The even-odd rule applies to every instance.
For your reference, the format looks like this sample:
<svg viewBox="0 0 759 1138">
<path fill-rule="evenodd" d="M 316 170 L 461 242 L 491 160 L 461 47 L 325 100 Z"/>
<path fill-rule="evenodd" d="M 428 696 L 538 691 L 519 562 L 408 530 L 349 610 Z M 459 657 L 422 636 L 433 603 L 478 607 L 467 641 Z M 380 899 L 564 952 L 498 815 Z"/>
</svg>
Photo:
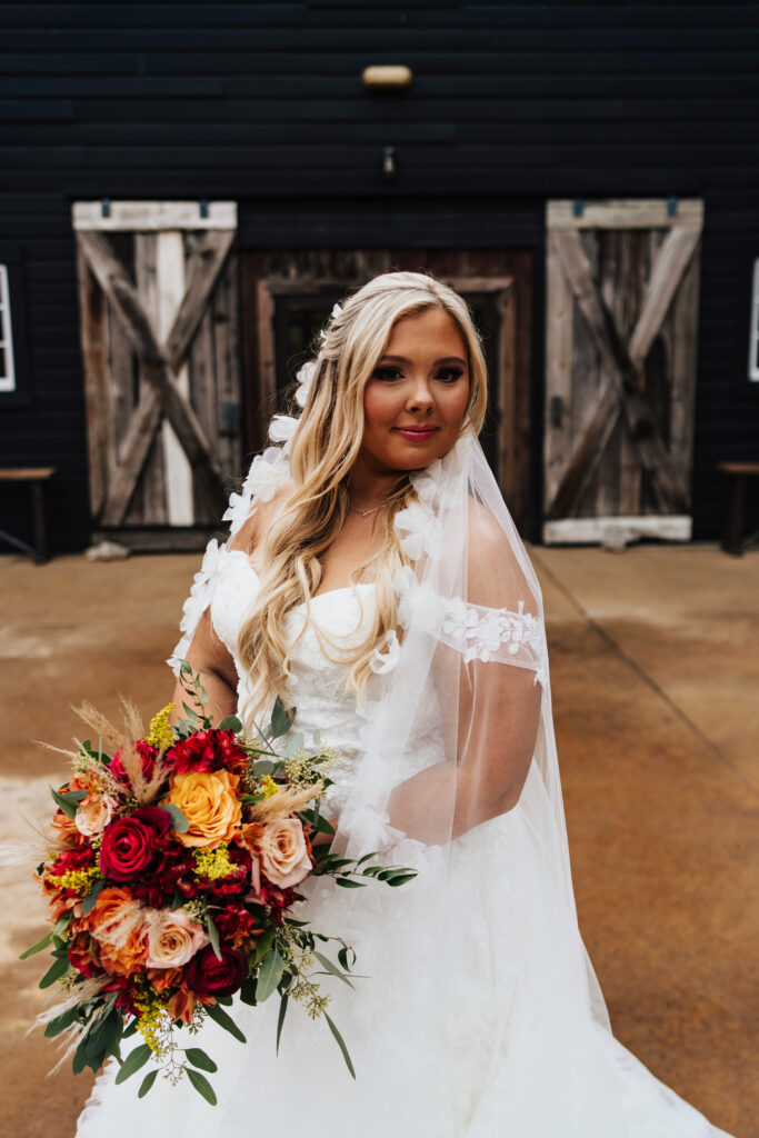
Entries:
<svg viewBox="0 0 759 1138">
<path fill-rule="evenodd" d="M 377 63 L 412 89 L 364 92 Z M 27 351 L 0 463 L 58 467 L 53 547 L 86 544 L 75 199 L 231 198 L 248 247 L 529 246 L 539 387 L 545 199 L 702 197 L 694 537 L 716 538 L 716 462 L 759 456 L 758 121 L 753 0 L 2 5 L 0 258 L 20 258 Z M 26 513 L 0 490 L 0 526 Z"/>
</svg>

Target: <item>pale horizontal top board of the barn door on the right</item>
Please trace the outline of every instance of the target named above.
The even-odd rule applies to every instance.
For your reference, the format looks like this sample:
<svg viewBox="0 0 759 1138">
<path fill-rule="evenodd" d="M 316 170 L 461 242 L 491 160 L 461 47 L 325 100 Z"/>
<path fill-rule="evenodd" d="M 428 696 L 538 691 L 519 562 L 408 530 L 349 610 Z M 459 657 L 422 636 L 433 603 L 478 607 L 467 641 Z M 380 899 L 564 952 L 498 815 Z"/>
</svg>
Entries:
<svg viewBox="0 0 759 1138">
<path fill-rule="evenodd" d="M 571 229 L 678 229 L 703 226 L 703 200 L 678 198 L 677 213 L 670 217 L 666 198 L 622 198 L 584 201 L 583 214 L 575 216 L 571 199 L 547 201 L 545 224 L 548 230 Z"/>
</svg>

